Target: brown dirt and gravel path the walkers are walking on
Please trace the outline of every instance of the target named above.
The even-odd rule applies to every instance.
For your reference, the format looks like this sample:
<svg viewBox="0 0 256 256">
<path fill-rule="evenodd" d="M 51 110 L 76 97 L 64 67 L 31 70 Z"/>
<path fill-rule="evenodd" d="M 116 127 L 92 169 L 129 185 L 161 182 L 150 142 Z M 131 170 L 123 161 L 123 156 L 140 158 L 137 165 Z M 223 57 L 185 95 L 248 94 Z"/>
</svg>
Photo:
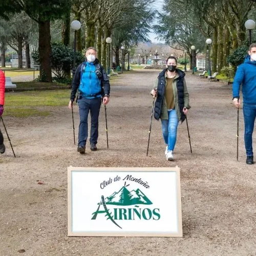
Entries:
<svg viewBox="0 0 256 256">
<path fill-rule="evenodd" d="M 178 127 L 175 161 L 166 161 L 160 122 L 154 120 L 146 157 L 152 108 L 149 92 L 159 71 L 138 70 L 113 82 L 108 105 L 106 148 L 101 109 L 97 152 L 76 152 L 68 107 L 48 117 L 5 117 L 8 140 L 0 156 L 0 255 L 256 255 L 255 165 L 245 164 L 240 113 L 239 162 L 237 111 L 231 86 L 191 74 L 186 81 L 193 154 L 186 123 Z M 68 99 L 67 99 L 68 105 Z M 75 111 L 76 135 L 78 110 Z M 3 126 L 1 125 L 1 130 Z M 5 135 L 6 138 L 6 135 Z M 253 137 L 256 142 L 255 134 Z M 67 167 L 181 168 L 183 238 L 67 236 Z M 38 181 L 44 184 L 38 185 Z"/>
</svg>

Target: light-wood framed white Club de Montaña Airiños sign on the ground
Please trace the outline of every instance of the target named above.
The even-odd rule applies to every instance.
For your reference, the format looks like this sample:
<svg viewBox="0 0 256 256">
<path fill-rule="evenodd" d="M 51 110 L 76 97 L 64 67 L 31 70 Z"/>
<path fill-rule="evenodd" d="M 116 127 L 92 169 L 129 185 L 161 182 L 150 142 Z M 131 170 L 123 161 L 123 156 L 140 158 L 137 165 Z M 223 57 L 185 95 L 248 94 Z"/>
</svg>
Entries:
<svg viewBox="0 0 256 256">
<path fill-rule="evenodd" d="M 68 167 L 68 236 L 182 237 L 179 167 Z"/>
</svg>

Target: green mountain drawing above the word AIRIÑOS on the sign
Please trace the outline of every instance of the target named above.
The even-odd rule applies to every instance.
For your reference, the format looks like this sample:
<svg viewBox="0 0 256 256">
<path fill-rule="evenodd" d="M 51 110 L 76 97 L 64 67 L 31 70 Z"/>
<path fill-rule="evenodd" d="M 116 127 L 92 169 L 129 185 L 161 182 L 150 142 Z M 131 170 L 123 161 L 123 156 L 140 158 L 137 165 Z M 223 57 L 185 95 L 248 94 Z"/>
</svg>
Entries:
<svg viewBox="0 0 256 256">
<path fill-rule="evenodd" d="M 105 198 L 106 204 L 113 205 L 135 205 L 135 204 L 152 204 L 145 194 L 138 188 L 129 191 L 123 186 L 118 192 L 114 192 L 111 196 Z"/>
</svg>

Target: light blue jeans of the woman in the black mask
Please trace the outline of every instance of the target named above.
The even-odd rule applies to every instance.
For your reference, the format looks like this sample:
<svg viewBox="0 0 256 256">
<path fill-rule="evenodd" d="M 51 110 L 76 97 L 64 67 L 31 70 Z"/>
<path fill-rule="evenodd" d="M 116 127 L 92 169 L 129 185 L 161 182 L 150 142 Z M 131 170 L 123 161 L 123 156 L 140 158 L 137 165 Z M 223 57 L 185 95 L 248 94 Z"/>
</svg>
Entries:
<svg viewBox="0 0 256 256">
<path fill-rule="evenodd" d="M 168 120 L 161 119 L 162 122 L 162 132 L 163 132 L 163 139 L 166 145 L 168 145 L 168 151 L 173 151 L 176 138 L 177 138 L 177 127 L 178 127 L 178 117 L 176 114 L 176 110 L 168 111 Z"/>
</svg>

